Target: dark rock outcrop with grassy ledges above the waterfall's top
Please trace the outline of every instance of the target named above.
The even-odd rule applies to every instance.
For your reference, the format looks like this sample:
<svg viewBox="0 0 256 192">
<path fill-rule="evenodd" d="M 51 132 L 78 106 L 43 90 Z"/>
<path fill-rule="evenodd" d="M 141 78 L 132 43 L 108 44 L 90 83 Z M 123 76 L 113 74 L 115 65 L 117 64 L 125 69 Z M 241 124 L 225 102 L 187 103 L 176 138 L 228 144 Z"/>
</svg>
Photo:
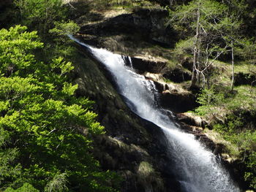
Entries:
<svg viewBox="0 0 256 192">
<path fill-rule="evenodd" d="M 75 7 L 81 7 L 80 4 Z M 86 6 L 84 7 L 86 10 Z M 123 11 L 123 12 L 122 12 Z M 114 10 L 109 16 L 94 13 L 95 20 L 84 23 L 84 15 L 76 10 L 72 19 L 80 24 L 80 36 L 83 41 L 94 47 L 105 47 L 124 55 L 141 54 L 143 48 L 154 45 L 173 45 L 173 31 L 166 26 L 168 12 L 162 8 L 134 8 L 131 11 Z M 87 12 L 90 10 L 87 9 Z M 93 13 L 89 15 L 93 18 Z M 128 54 L 127 54 L 128 53 Z M 159 53 L 160 54 L 160 53 Z"/>
</svg>

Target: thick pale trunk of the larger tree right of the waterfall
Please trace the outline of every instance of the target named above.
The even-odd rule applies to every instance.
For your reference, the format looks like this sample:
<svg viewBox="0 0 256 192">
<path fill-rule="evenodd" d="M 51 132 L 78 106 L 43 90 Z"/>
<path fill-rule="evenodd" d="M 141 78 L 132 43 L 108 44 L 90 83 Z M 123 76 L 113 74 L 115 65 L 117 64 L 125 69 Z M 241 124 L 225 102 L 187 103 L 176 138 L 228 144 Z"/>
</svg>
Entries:
<svg viewBox="0 0 256 192">
<path fill-rule="evenodd" d="M 194 42 L 194 57 L 193 57 L 193 72 L 192 72 L 192 79 L 191 79 L 191 85 L 190 88 L 195 87 L 195 84 L 197 82 L 197 42 L 198 42 L 198 36 L 199 36 L 199 21 L 200 21 L 200 10 L 197 8 L 197 29 L 195 34 L 195 42 Z"/>
</svg>

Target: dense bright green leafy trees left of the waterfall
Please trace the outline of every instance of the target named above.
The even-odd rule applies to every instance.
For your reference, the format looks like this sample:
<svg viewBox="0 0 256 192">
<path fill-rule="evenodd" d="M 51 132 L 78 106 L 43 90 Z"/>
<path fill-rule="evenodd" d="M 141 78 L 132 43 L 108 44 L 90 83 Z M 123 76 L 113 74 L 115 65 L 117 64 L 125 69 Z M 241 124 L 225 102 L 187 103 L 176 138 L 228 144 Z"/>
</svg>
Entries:
<svg viewBox="0 0 256 192">
<path fill-rule="evenodd" d="M 104 131 L 92 102 L 67 82 L 72 64 L 38 61 L 33 51 L 42 43 L 26 27 L 2 29 L 0 38 L 0 188 L 116 191 L 116 174 L 102 172 L 89 152 L 91 137 Z"/>
</svg>

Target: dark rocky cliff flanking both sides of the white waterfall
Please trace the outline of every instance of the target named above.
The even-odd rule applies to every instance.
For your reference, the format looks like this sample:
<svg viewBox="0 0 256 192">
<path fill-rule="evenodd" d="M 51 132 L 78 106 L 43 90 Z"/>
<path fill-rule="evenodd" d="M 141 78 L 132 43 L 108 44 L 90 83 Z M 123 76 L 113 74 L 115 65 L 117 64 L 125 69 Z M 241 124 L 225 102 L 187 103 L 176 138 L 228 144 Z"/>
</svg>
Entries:
<svg viewBox="0 0 256 192">
<path fill-rule="evenodd" d="M 132 57 L 133 67 L 146 78 L 154 80 L 159 91 L 159 104 L 174 112 L 196 107 L 195 95 L 165 79 L 184 82 L 190 72 L 176 66 L 166 70 L 170 50 L 176 41 L 171 28 L 165 25 L 167 11 L 161 7 L 127 10 L 91 9 L 84 2 L 72 4 L 72 18 L 80 24 L 78 38 L 95 47 Z M 84 47 L 76 63 L 77 94 L 95 101 L 94 109 L 106 134 L 95 138 L 94 155 L 104 169 L 115 170 L 124 177 L 121 191 L 180 191 L 171 170 L 171 154 L 167 154 L 165 135 L 153 123 L 132 113 L 115 91 L 110 74 L 94 61 Z M 186 62 L 184 62 L 186 64 Z M 195 134 L 217 155 L 221 147 L 203 134 L 202 119 L 187 114 L 176 115 L 185 131 Z"/>
</svg>

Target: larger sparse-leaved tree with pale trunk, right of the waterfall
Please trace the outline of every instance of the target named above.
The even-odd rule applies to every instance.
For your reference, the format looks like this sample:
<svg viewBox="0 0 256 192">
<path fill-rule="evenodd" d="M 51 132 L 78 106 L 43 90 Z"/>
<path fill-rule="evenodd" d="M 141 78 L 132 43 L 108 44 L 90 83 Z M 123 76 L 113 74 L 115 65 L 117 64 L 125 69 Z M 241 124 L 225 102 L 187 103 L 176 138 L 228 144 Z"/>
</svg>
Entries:
<svg viewBox="0 0 256 192">
<path fill-rule="evenodd" d="M 192 87 L 196 82 L 198 85 L 203 82 L 200 86 L 204 87 L 207 83 L 209 88 L 214 75 L 214 61 L 221 55 L 229 54 L 230 47 L 238 46 L 235 42 L 240 38 L 241 21 L 228 9 L 218 1 L 195 0 L 170 11 L 170 23 L 181 37 L 175 53 L 193 54 Z"/>
</svg>

